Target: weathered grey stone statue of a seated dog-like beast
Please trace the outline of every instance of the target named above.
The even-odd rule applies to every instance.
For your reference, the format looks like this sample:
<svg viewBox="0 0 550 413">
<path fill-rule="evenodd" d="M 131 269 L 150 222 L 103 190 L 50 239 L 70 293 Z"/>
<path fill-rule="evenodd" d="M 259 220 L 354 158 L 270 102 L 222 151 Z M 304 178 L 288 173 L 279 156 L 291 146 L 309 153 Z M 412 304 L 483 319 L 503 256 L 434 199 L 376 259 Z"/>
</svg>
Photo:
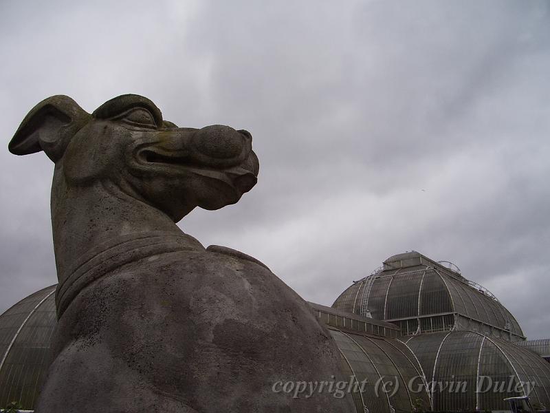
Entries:
<svg viewBox="0 0 550 413">
<path fill-rule="evenodd" d="M 175 224 L 254 187 L 248 131 L 177 127 L 133 94 L 92 114 L 60 95 L 30 111 L 9 149 L 55 163 L 58 324 L 36 412 L 355 411 L 329 393 L 274 392 L 330 380 L 336 345 L 264 264 Z"/>
</svg>

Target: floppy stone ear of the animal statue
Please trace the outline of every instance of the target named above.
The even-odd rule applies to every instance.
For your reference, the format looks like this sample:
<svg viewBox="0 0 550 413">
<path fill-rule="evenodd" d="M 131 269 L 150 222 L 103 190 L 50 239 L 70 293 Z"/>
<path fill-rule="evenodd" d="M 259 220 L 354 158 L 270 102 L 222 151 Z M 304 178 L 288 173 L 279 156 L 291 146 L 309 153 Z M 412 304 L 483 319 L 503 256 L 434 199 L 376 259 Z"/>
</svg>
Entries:
<svg viewBox="0 0 550 413">
<path fill-rule="evenodd" d="M 56 95 L 42 100 L 25 116 L 8 149 L 15 155 L 44 151 L 57 162 L 71 138 L 90 120 L 69 96 Z"/>
</svg>

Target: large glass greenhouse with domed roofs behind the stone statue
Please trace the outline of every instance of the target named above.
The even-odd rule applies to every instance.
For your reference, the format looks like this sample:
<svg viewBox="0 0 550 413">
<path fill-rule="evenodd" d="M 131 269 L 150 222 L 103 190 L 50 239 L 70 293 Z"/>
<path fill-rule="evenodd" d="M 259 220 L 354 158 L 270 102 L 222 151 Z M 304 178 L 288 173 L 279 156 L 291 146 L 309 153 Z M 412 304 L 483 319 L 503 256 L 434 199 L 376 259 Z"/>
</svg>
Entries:
<svg viewBox="0 0 550 413">
<path fill-rule="evenodd" d="M 56 325 L 55 288 L 0 315 L 0 407 L 34 408 Z M 393 255 L 332 307 L 309 306 L 340 350 L 334 375 L 358 383 L 347 392 L 358 413 L 506 412 L 503 399 L 525 395 L 550 407 L 550 339 L 525 341 L 503 304 L 449 263 Z"/>
</svg>

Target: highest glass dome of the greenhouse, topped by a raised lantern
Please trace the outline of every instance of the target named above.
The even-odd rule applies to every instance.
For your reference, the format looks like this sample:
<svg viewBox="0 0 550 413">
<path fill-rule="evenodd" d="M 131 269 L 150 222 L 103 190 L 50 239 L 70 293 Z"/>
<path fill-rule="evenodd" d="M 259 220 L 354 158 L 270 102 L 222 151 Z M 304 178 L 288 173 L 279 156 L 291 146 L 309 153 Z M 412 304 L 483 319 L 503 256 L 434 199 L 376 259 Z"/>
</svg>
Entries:
<svg viewBox="0 0 550 413">
<path fill-rule="evenodd" d="M 485 288 L 415 251 L 393 255 L 375 273 L 354 282 L 333 308 L 375 319 L 456 314 L 463 319 L 524 339 L 518 321 Z"/>
</svg>

